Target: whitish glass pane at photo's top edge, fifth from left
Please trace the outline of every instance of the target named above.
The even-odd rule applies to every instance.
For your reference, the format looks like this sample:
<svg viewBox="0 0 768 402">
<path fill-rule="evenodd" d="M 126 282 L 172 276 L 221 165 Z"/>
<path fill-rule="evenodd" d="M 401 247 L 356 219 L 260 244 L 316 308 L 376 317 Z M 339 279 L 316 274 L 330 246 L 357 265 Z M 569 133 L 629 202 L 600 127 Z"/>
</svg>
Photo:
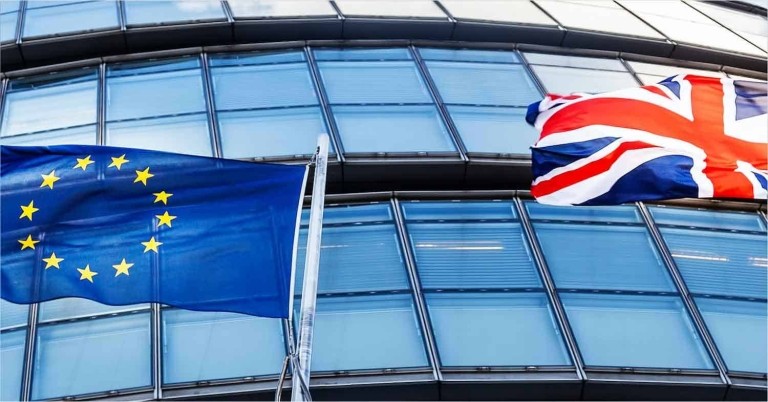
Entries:
<svg viewBox="0 0 768 402">
<path fill-rule="evenodd" d="M 336 4 L 344 15 L 373 17 L 422 17 L 443 18 L 447 16 L 429 0 L 337 0 Z"/>
</svg>

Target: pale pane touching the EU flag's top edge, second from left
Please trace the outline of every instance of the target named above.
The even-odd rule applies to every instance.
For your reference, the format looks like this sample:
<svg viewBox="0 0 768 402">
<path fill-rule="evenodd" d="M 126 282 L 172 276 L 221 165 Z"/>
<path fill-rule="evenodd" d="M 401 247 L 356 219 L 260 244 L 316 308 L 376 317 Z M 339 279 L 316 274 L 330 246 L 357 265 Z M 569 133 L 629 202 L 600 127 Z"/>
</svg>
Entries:
<svg viewBox="0 0 768 402">
<path fill-rule="evenodd" d="M 213 155 L 205 114 L 108 123 L 106 137 L 115 147 Z"/>
</svg>

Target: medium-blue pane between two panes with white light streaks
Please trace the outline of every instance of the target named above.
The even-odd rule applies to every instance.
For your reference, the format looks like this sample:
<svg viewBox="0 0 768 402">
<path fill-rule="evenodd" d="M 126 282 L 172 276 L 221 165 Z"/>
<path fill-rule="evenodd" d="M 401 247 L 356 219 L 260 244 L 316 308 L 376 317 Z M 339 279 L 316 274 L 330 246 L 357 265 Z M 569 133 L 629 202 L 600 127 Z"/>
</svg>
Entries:
<svg viewBox="0 0 768 402">
<path fill-rule="evenodd" d="M 642 227 L 536 223 L 559 288 L 674 291 Z"/>
</svg>

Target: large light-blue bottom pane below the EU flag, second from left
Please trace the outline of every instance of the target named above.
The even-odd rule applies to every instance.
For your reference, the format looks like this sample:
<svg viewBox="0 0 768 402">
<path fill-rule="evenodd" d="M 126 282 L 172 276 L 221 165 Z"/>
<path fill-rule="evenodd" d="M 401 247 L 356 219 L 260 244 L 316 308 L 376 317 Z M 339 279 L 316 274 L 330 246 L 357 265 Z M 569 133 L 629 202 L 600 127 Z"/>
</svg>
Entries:
<svg viewBox="0 0 768 402">
<path fill-rule="evenodd" d="M 32 398 L 149 386 L 149 314 L 38 328 Z"/>
</svg>

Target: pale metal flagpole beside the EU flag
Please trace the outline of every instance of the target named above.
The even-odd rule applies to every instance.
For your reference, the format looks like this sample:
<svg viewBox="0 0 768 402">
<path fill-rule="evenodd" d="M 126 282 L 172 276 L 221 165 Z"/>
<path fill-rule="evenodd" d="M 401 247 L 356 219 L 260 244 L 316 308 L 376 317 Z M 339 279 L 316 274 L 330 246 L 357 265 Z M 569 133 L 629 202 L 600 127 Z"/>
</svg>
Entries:
<svg viewBox="0 0 768 402">
<path fill-rule="evenodd" d="M 323 208 L 325 206 L 325 178 L 328 167 L 328 134 L 317 138 L 315 154 L 315 180 L 312 184 L 312 207 L 309 213 L 307 234 L 307 259 L 304 265 L 304 284 L 301 291 L 301 315 L 299 316 L 298 362 L 293 367 L 291 400 L 309 401 L 309 377 L 312 365 L 312 332 L 315 326 L 317 306 L 317 282 L 320 269 L 320 240 L 323 229 Z M 302 384 L 304 383 L 304 392 Z"/>
</svg>

